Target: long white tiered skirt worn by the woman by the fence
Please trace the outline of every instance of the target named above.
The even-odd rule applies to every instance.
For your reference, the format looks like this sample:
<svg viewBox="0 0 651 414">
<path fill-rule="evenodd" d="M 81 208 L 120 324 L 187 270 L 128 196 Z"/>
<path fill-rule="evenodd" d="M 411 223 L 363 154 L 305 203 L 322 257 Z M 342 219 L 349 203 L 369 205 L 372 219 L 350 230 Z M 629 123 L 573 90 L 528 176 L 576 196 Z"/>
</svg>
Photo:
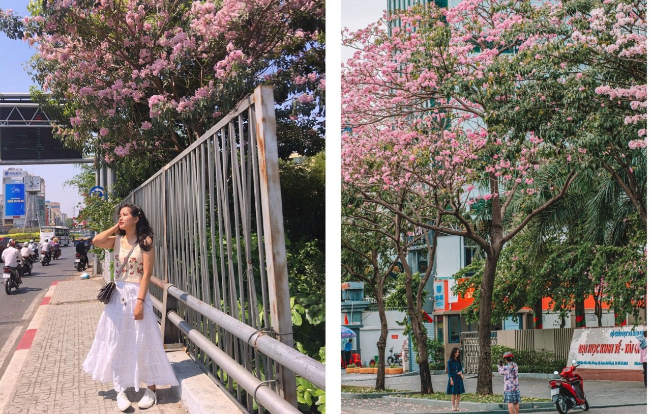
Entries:
<svg viewBox="0 0 651 414">
<path fill-rule="evenodd" d="M 115 391 L 146 385 L 178 385 L 167 360 L 161 331 L 149 293 L 143 319 L 133 319 L 140 285 L 116 282 L 111 301 L 104 308 L 83 370 L 102 383 L 113 382 Z M 125 300 L 122 301 L 122 298 Z"/>
</svg>

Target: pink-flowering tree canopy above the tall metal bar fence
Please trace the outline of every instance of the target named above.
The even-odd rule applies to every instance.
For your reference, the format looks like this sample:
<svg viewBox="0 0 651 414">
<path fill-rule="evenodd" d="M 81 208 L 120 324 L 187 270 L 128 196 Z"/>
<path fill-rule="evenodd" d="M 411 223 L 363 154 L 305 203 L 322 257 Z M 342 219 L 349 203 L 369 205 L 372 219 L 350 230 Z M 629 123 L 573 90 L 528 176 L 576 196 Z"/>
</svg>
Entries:
<svg viewBox="0 0 651 414">
<path fill-rule="evenodd" d="M 260 83 L 293 117 L 324 113 L 323 0 L 48 0 L 31 13 L 0 10 L 0 29 L 38 48 L 29 66 L 68 121 L 59 138 L 106 162 L 173 158 Z"/>
</svg>

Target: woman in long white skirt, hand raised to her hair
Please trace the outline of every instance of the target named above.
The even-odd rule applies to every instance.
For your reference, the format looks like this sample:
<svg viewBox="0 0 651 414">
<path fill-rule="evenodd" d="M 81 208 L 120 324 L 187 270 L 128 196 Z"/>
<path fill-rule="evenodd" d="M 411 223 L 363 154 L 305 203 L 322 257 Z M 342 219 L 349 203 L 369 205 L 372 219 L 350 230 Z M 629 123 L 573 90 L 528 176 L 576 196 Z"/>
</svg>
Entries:
<svg viewBox="0 0 651 414">
<path fill-rule="evenodd" d="M 118 233 L 117 236 L 113 235 Z M 120 411 L 131 407 L 124 393 L 128 387 L 147 385 L 140 408 L 156 404 L 156 385 L 178 385 L 165 355 L 160 328 L 149 295 L 154 269 L 154 231 L 143 210 L 134 204 L 120 208 L 118 224 L 92 239 L 95 246 L 113 248 L 117 272 L 126 256 L 128 263 L 115 274 L 115 291 L 104 308 L 83 370 L 92 379 L 113 382 Z M 133 248 L 133 250 L 132 250 Z"/>
</svg>

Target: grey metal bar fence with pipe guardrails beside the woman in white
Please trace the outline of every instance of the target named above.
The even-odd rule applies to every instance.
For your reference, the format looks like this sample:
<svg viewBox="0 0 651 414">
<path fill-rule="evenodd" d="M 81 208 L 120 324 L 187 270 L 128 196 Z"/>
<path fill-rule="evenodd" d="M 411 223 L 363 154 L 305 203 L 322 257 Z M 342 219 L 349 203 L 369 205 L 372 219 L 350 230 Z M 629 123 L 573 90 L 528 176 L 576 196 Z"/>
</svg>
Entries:
<svg viewBox="0 0 651 414">
<path fill-rule="evenodd" d="M 125 199 L 156 232 L 166 346 L 182 341 L 251 413 L 298 413 L 295 372 L 326 386 L 294 349 L 278 168 L 273 92 L 258 87 Z"/>
</svg>

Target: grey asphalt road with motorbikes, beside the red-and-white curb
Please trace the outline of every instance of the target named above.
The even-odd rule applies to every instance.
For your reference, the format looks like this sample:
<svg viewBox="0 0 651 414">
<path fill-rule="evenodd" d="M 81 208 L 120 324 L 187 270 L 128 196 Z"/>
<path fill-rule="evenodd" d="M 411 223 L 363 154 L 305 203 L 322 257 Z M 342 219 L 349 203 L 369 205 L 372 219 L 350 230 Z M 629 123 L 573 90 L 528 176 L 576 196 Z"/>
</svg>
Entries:
<svg viewBox="0 0 651 414">
<path fill-rule="evenodd" d="M 92 254 L 88 256 L 92 263 Z M 5 287 L 0 286 L 0 377 L 5 374 L 18 341 L 52 282 L 79 277 L 80 273 L 74 268 L 74 259 L 74 246 L 63 247 L 61 257 L 50 261 L 49 265 L 34 263 L 32 274 L 23 276 L 20 288 L 12 289 L 11 295 L 7 295 Z"/>
</svg>

